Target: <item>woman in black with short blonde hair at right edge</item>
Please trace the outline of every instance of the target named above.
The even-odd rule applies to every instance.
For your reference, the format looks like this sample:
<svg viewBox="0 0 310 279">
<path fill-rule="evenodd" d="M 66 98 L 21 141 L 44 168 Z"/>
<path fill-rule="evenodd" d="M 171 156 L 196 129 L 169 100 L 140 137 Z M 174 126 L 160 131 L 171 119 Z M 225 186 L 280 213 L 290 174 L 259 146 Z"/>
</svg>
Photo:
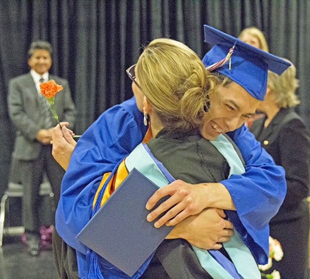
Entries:
<svg viewBox="0 0 310 279">
<path fill-rule="evenodd" d="M 292 64 L 281 75 L 268 72 L 267 92 L 258 107 L 265 117 L 254 121 L 254 133 L 278 165 L 285 169 L 287 193 L 278 213 L 270 220 L 270 235 L 279 240 L 283 258 L 271 270 L 281 278 L 308 278 L 310 135 L 294 112 L 298 80 Z"/>
</svg>

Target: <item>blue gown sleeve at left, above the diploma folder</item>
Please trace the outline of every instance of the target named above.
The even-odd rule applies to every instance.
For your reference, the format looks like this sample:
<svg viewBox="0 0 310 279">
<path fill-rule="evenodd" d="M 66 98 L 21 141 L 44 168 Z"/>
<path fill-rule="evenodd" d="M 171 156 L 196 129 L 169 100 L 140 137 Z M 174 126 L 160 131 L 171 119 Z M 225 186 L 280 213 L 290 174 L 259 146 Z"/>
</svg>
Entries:
<svg viewBox="0 0 310 279">
<path fill-rule="evenodd" d="M 110 172 L 142 141 L 146 129 L 132 97 L 104 111 L 78 139 L 63 176 L 55 215 L 58 234 L 78 252 L 86 254 L 86 246 L 75 236 L 90 219 L 103 173 Z"/>
</svg>

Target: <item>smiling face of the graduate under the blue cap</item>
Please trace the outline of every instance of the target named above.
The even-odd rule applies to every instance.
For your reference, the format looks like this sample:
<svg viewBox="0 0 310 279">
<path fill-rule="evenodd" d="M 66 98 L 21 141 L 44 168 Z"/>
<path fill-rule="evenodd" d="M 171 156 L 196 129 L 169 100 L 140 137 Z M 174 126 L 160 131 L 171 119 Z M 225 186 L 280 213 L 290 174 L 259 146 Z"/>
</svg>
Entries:
<svg viewBox="0 0 310 279">
<path fill-rule="evenodd" d="M 208 140 L 214 140 L 219 134 L 240 127 L 248 117 L 254 115 L 260 101 L 232 81 L 212 92 L 210 103 L 201 134 Z"/>
</svg>

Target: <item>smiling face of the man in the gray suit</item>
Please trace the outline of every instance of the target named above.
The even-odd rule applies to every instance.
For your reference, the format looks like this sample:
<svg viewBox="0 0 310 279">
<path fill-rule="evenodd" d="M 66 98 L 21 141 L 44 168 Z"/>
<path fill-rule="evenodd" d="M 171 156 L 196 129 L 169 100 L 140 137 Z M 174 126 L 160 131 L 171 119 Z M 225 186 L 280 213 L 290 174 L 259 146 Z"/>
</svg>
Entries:
<svg viewBox="0 0 310 279">
<path fill-rule="evenodd" d="M 38 74 L 48 71 L 51 66 L 51 57 L 46 49 L 35 49 L 28 59 L 28 65 Z"/>
</svg>

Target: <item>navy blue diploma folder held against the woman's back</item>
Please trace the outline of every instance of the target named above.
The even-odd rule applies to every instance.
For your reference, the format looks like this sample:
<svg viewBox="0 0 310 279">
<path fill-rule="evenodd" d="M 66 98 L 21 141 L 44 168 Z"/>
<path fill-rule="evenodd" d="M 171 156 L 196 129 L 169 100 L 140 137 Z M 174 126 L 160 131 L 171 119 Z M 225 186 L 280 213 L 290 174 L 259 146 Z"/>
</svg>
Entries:
<svg viewBox="0 0 310 279">
<path fill-rule="evenodd" d="M 133 168 L 76 238 L 132 276 L 173 228 L 155 228 L 154 222 L 146 220 L 150 211 L 145 204 L 157 189 Z"/>
</svg>

